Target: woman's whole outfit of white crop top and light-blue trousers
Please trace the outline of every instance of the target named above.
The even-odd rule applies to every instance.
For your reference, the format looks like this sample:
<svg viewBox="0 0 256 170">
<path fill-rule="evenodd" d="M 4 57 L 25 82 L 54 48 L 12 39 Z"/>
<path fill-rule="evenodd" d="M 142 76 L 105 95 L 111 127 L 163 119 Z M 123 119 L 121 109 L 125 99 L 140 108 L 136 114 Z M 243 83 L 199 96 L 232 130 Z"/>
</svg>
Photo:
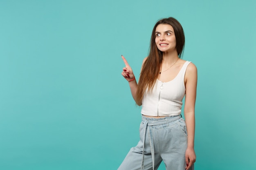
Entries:
<svg viewBox="0 0 256 170">
<path fill-rule="evenodd" d="M 157 170 L 164 161 L 166 170 L 184 170 L 187 148 L 186 123 L 180 117 L 185 95 L 186 61 L 178 75 L 169 82 L 157 80 L 152 91 L 142 99 L 140 141 L 130 149 L 118 170 Z M 165 116 L 149 118 L 147 116 Z M 193 170 L 194 166 L 190 168 Z"/>
</svg>

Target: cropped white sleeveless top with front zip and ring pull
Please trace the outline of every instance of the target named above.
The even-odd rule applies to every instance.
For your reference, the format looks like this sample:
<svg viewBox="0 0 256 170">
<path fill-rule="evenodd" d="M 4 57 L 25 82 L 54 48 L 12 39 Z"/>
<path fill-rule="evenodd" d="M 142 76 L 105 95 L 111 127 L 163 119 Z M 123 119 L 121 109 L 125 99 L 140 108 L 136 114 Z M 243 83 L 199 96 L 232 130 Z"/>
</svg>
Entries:
<svg viewBox="0 0 256 170">
<path fill-rule="evenodd" d="M 152 92 L 146 91 L 142 99 L 141 114 L 147 116 L 177 116 L 181 114 L 185 95 L 184 76 L 189 65 L 186 61 L 177 76 L 169 82 L 157 79 Z"/>
</svg>

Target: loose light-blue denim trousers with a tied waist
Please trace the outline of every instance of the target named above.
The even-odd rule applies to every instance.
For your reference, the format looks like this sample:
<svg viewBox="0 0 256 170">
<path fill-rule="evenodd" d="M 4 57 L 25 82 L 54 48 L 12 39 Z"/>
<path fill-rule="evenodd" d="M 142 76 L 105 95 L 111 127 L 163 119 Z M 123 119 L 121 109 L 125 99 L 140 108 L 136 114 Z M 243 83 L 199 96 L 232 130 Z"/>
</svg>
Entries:
<svg viewBox="0 0 256 170">
<path fill-rule="evenodd" d="M 164 161 L 166 170 L 184 170 L 187 148 L 186 123 L 180 116 L 142 116 L 140 140 L 130 149 L 118 170 L 157 170 Z M 193 170 L 194 166 L 190 168 Z"/>
</svg>

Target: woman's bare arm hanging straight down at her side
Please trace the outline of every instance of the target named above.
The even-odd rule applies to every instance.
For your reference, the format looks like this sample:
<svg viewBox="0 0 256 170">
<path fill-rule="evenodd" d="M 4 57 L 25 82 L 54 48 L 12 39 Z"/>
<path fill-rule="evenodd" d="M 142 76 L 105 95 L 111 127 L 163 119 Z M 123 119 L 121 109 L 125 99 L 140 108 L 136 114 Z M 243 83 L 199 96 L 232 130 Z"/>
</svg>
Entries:
<svg viewBox="0 0 256 170">
<path fill-rule="evenodd" d="M 185 106 L 184 116 L 186 121 L 186 128 L 188 134 L 188 146 L 186 149 L 186 170 L 195 163 L 194 137 L 195 137 L 195 98 L 197 86 L 197 68 L 193 63 L 190 63 L 186 69 L 185 74 Z"/>
</svg>

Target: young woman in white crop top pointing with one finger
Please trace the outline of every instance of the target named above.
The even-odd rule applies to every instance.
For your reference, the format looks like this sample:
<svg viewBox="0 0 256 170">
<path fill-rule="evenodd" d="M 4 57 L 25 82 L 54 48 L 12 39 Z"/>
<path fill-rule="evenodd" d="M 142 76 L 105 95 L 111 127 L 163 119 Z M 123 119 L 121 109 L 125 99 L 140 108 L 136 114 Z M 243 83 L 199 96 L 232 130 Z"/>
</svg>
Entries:
<svg viewBox="0 0 256 170">
<path fill-rule="evenodd" d="M 195 97 L 197 68 L 182 60 L 185 37 L 175 18 L 159 20 L 152 31 L 150 52 L 143 61 L 139 83 L 122 56 L 121 73 L 132 97 L 141 106 L 140 141 L 130 149 L 118 170 L 193 170 L 195 163 Z M 184 116 L 181 118 L 182 99 Z"/>
</svg>

